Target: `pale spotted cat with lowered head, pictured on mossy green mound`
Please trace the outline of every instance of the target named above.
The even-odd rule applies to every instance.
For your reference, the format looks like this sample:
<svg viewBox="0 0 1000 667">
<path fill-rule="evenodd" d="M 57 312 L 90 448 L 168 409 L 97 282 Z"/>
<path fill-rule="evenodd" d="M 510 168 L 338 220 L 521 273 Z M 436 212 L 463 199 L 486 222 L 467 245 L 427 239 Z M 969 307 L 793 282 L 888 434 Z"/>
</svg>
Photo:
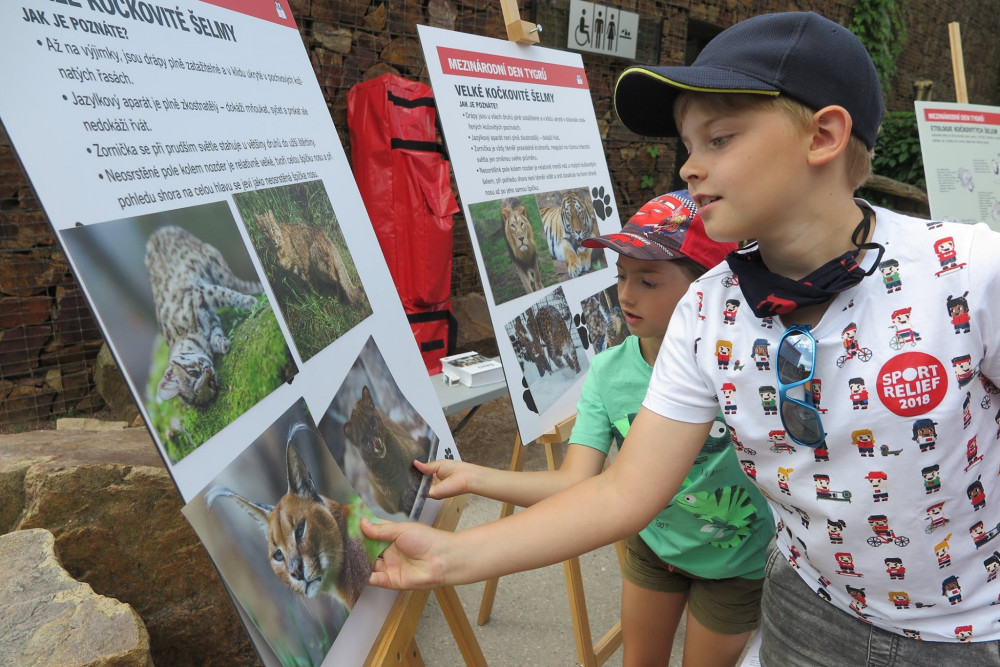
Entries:
<svg viewBox="0 0 1000 667">
<path fill-rule="evenodd" d="M 161 401 L 180 397 L 187 405 L 208 405 L 219 391 L 215 357 L 231 347 L 218 311 L 250 312 L 263 289 L 233 274 L 214 246 L 175 226 L 150 236 L 146 270 L 156 320 L 170 349 L 157 396 Z"/>
</svg>

